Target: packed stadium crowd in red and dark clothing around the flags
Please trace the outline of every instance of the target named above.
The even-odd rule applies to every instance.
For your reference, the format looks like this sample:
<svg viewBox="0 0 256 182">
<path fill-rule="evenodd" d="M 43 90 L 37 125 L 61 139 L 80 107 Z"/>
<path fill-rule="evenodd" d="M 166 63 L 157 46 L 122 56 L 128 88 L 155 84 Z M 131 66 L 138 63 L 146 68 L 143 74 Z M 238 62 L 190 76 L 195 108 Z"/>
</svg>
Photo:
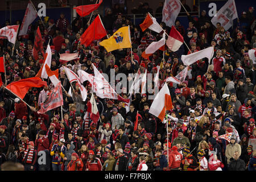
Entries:
<svg viewBox="0 0 256 182">
<path fill-rule="evenodd" d="M 140 5 L 145 14 L 152 11 L 147 3 Z M 160 7 L 159 7 L 160 9 Z M 160 10 L 161 12 L 161 10 Z M 162 38 L 163 32 L 141 31 L 129 18 L 123 16 L 119 6 L 107 9 L 101 16 L 109 36 L 118 28 L 130 26 L 133 59 L 130 48 L 107 52 L 95 40 L 85 47 L 80 36 L 94 18 L 77 16 L 69 22 L 64 14 L 55 22 L 44 18 L 31 24 L 28 36 L 18 37 L 17 49 L 6 39 L 0 40 L 1 55 L 5 56 L 6 78 L 10 84 L 24 78 L 34 77 L 43 65 L 43 55 L 34 60 L 32 48 L 34 35 L 39 26 L 43 45 L 49 42 L 52 51 L 51 70 L 65 65 L 73 72 L 80 69 L 93 74 L 93 64 L 101 73 L 115 75 L 156 73 L 160 67 L 160 85 L 169 76 L 176 76 L 184 68 L 181 55 L 214 47 L 212 60 L 201 59 L 189 66 L 188 75 L 182 84 L 168 82 L 174 109 L 168 110 L 168 120 L 148 113 L 153 100 L 148 94 L 136 93 L 131 97 L 129 111 L 125 102 L 102 99 L 94 94 L 100 120 L 92 122 L 88 117 L 87 102 L 92 85 L 85 81 L 88 90 L 86 101 L 82 101 L 79 85 L 71 86 L 65 72 L 59 69 L 59 80 L 63 85 L 63 119 L 61 107 L 39 114 L 40 104 L 47 100 L 53 89 L 49 79 L 44 88 L 31 88 L 24 101 L 16 98 L 4 88 L 0 89 L 0 164 L 10 162 L 23 164 L 27 171 L 255 171 L 256 169 L 256 27 L 254 8 L 243 11 L 238 23 L 225 30 L 220 23 L 214 27 L 205 10 L 199 18 L 189 20 L 187 30 L 177 18 L 176 29 L 184 37 L 189 49 L 184 46 L 176 52 L 156 51 L 150 59 L 141 55 L 147 46 Z M 17 23 L 19 23 L 17 21 Z M 6 25 L 10 24 L 8 21 Z M 6 26 L 5 25 L 5 26 Z M 168 33 L 170 27 L 161 22 Z M 61 64 L 59 53 L 79 53 L 79 59 Z M 253 52 L 253 53 L 252 53 Z M 210 61 L 210 62 L 209 62 Z M 209 65 L 209 66 L 208 66 Z M 116 84 L 120 80 L 116 80 Z M 152 84 L 154 87 L 154 83 Z M 121 96 L 128 98 L 127 90 Z M 160 88 L 159 88 L 160 90 Z M 134 131 L 137 111 L 138 127 Z M 168 122 L 168 125 L 166 125 Z M 168 126 L 168 128 L 166 128 Z M 218 138 L 232 133 L 230 140 Z M 167 143 L 168 136 L 168 143 Z M 168 152 L 167 152 L 168 151 Z M 168 155 L 167 155 L 168 153 Z M 45 159 L 42 162 L 42 157 Z"/>
</svg>

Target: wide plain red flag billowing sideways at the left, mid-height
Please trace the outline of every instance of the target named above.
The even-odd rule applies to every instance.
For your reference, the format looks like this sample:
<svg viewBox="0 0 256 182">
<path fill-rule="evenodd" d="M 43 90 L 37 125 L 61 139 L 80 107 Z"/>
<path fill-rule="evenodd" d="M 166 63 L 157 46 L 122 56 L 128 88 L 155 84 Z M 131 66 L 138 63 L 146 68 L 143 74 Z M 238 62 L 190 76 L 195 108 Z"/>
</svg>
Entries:
<svg viewBox="0 0 256 182">
<path fill-rule="evenodd" d="M 23 99 L 31 87 L 39 88 L 41 86 L 47 86 L 47 82 L 42 81 L 41 78 L 32 77 L 11 82 L 6 88 L 16 94 L 19 98 Z"/>
</svg>

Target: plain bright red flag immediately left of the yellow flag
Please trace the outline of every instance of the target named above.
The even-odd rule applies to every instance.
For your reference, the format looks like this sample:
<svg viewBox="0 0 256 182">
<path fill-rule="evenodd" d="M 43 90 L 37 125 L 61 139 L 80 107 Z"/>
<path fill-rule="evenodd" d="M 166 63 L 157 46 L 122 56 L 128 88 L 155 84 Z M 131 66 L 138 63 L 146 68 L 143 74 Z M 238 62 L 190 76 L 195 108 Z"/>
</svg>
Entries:
<svg viewBox="0 0 256 182">
<path fill-rule="evenodd" d="M 104 28 L 104 25 L 101 22 L 100 15 L 98 15 L 92 24 L 86 29 L 84 34 L 81 36 L 81 44 L 84 44 L 86 47 L 90 45 L 90 43 L 93 42 L 93 40 L 98 40 L 101 38 L 104 38 L 106 36 L 106 30 Z"/>
</svg>

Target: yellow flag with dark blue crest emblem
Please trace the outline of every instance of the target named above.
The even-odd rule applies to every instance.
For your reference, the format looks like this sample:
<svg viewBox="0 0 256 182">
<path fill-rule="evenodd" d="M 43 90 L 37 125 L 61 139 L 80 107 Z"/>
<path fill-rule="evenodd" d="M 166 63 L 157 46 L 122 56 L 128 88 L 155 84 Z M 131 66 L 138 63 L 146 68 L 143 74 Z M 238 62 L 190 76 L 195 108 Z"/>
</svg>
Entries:
<svg viewBox="0 0 256 182">
<path fill-rule="evenodd" d="M 109 39 L 103 40 L 99 43 L 103 46 L 106 51 L 114 51 L 121 48 L 130 48 L 131 47 L 131 38 L 130 38 L 130 27 L 119 28 Z"/>
</svg>

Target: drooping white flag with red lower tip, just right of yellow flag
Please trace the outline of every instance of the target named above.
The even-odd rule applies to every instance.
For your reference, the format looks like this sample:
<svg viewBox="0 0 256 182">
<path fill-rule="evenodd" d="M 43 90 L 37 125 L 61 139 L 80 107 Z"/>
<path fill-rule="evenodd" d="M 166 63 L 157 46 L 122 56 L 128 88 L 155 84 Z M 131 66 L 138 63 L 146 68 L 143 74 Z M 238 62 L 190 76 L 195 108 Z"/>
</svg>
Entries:
<svg viewBox="0 0 256 182">
<path fill-rule="evenodd" d="M 148 59 L 155 51 L 162 48 L 166 44 L 166 34 L 163 34 L 163 38 L 158 42 L 152 42 L 144 52 L 142 52 L 142 57 Z M 164 48 L 164 47 L 163 47 Z M 164 50 L 164 49 L 163 49 Z M 162 50 L 162 51 L 163 51 Z"/>
</svg>

